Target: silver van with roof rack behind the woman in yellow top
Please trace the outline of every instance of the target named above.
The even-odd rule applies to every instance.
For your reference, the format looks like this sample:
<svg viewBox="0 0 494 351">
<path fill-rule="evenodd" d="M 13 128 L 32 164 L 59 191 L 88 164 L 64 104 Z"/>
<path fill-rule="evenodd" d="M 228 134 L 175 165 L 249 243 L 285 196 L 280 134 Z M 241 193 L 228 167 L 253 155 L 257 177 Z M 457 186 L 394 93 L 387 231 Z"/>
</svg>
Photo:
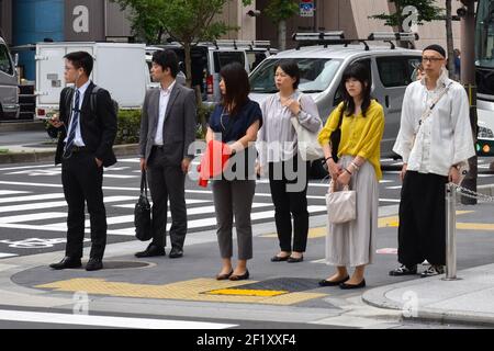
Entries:
<svg viewBox="0 0 494 351">
<path fill-rule="evenodd" d="M 266 58 L 250 73 L 250 99 L 261 103 L 277 92 L 274 67 L 282 60 L 295 60 L 301 70 L 299 89 L 311 94 L 323 122 L 341 101 L 339 83 L 346 67 L 362 63 L 370 68 L 372 97 L 384 107 L 385 126 L 381 143 L 382 157 L 395 157 L 392 151 L 400 129 L 400 117 L 405 88 L 412 82 L 414 70 L 420 63 L 419 50 L 391 48 L 391 46 L 324 45 L 280 52 Z"/>
</svg>

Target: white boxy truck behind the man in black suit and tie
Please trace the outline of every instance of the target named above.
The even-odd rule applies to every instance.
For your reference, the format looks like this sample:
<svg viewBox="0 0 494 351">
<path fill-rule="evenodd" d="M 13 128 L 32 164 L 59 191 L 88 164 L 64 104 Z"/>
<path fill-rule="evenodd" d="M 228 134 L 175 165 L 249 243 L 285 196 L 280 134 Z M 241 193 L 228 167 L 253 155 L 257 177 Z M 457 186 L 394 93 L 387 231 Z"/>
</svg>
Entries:
<svg viewBox="0 0 494 351">
<path fill-rule="evenodd" d="M 120 109 L 141 109 L 150 86 L 146 46 L 127 43 L 38 43 L 36 44 L 36 117 L 58 110 L 64 79 L 64 56 L 88 52 L 94 58 L 90 79 L 106 89 Z"/>
</svg>

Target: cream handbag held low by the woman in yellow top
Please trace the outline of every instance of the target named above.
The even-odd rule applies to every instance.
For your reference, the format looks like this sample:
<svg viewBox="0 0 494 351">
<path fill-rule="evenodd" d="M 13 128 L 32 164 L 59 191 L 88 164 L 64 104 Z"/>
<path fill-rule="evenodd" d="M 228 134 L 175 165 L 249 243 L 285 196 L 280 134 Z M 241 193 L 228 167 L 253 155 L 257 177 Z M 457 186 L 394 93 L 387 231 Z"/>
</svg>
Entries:
<svg viewBox="0 0 494 351">
<path fill-rule="evenodd" d="M 336 189 L 336 182 L 329 182 L 326 194 L 327 216 L 329 223 L 341 224 L 357 218 L 357 192 L 349 190 L 348 185 L 340 191 Z"/>
</svg>

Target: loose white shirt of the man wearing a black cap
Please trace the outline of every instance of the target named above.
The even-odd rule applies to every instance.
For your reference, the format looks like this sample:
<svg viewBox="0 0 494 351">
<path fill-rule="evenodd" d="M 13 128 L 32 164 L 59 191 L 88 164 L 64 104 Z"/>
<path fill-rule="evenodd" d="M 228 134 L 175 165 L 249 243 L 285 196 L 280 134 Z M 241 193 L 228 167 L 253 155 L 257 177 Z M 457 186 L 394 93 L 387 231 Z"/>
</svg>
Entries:
<svg viewBox="0 0 494 351">
<path fill-rule="evenodd" d="M 447 86 L 448 91 L 422 123 L 420 117 Z M 400 132 L 393 151 L 402 156 L 407 170 L 448 176 L 451 166 L 475 155 L 464 88 L 448 78 L 444 70 L 435 90 L 428 90 L 425 78 L 411 83 L 405 91 Z M 415 143 L 414 143 L 414 135 Z"/>
</svg>

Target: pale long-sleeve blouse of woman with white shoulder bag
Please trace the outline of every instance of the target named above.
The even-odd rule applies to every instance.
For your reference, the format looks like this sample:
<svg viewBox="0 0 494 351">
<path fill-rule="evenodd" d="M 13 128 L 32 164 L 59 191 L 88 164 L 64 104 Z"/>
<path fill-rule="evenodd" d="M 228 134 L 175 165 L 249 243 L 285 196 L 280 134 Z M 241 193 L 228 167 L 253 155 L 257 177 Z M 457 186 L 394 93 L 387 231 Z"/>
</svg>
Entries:
<svg viewBox="0 0 494 351">
<path fill-rule="evenodd" d="M 281 103 L 280 93 L 266 99 L 261 104 L 263 125 L 257 134 L 256 148 L 259 152 L 259 162 L 266 166 L 268 162 L 280 162 L 291 159 L 297 152 L 297 138 L 291 118 L 295 117 L 304 128 L 316 133 L 323 122 L 321 121 L 317 105 L 307 95 L 295 91 L 290 98 L 300 99 L 301 112 L 293 116 L 288 106 Z"/>
</svg>

